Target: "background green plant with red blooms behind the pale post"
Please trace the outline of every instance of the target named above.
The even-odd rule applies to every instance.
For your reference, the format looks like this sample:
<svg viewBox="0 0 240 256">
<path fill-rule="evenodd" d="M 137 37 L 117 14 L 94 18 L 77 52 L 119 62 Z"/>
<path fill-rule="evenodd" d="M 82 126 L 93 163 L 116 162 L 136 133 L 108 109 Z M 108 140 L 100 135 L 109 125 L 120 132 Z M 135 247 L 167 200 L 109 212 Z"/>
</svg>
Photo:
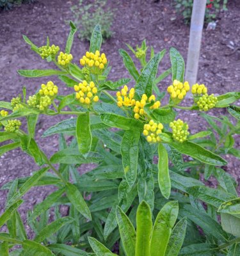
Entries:
<svg viewBox="0 0 240 256">
<path fill-rule="evenodd" d="M 207 0 L 205 10 L 205 22 L 211 22 L 216 19 L 216 15 L 221 11 L 227 11 L 228 0 Z M 173 0 L 173 5 L 177 13 L 180 13 L 184 21 L 188 24 L 191 20 L 193 9 L 193 0 Z"/>
</svg>

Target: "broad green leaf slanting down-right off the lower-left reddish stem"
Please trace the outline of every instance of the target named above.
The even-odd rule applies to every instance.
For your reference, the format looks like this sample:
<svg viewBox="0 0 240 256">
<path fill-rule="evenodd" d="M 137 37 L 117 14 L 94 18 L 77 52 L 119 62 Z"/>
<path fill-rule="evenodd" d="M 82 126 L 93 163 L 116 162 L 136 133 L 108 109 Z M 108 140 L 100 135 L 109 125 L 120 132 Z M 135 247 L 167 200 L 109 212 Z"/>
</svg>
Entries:
<svg viewBox="0 0 240 256">
<path fill-rule="evenodd" d="M 92 220 L 91 212 L 88 208 L 88 205 L 83 199 L 83 196 L 79 192 L 76 186 L 73 184 L 67 183 L 66 185 L 67 197 L 70 202 L 76 207 L 77 211 L 79 211 L 85 218 Z"/>
</svg>

